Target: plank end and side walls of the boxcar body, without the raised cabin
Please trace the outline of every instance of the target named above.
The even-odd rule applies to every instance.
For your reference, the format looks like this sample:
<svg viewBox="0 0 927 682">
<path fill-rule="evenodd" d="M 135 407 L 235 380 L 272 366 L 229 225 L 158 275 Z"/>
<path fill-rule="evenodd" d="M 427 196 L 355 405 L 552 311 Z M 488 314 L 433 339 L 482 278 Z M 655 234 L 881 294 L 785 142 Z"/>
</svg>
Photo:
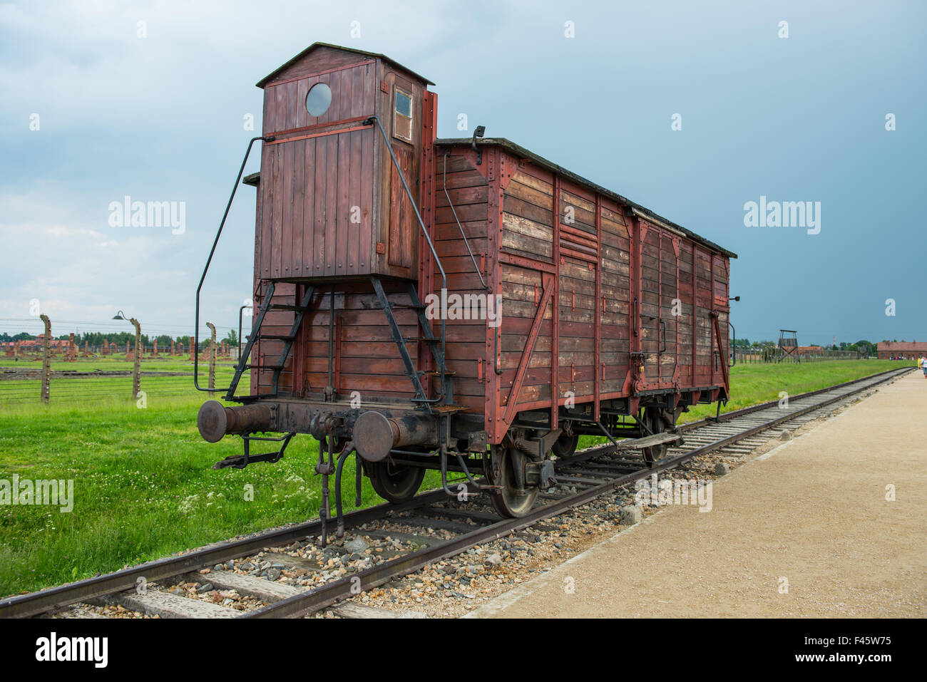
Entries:
<svg viewBox="0 0 927 682">
<path fill-rule="evenodd" d="M 447 188 L 464 233 L 467 235 L 476 262 L 489 281 L 487 234 L 489 229 L 490 184 L 472 160 L 459 150 L 451 154 L 447 165 Z M 444 155 L 440 147 L 435 155 L 435 224 L 433 238 L 438 257 L 448 273 L 448 293 L 484 294 L 485 290 L 470 259 L 460 230 L 444 194 Z M 514 384 L 515 373 L 526 346 L 527 334 L 543 295 L 542 267 L 557 266 L 560 335 L 558 339 L 558 386 L 563 398 L 573 391 L 579 403 L 592 399 L 595 373 L 601 373 L 603 398 L 623 395 L 622 389 L 629 371 L 631 314 L 631 235 L 628 222 L 619 207 L 607 197 L 596 197 L 585 188 L 562 182 L 557 205 L 560 208 L 560 254 L 553 263 L 554 183 L 552 174 L 536 168 L 519 169 L 502 194 L 502 253 L 522 260 L 500 263 L 502 295 L 502 329 L 500 335 L 500 367 L 503 400 Z M 596 233 L 596 206 L 599 208 Z M 565 222 L 566 208 L 572 208 L 571 221 Z M 728 261 L 712 256 L 702 246 L 679 239 L 679 258 L 673 236 L 649 227 L 641 247 L 642 282 L 641 311 L 654 321 L 641 321 L 643 349 L 653 353 L 662 345 L 659 319 L 667 321 L 667 350 L 662 353 L 662 371 L 655 363 L 647 366 L 649 381 L 667 383 L 679 359 L 679 382 L 688 385 L 712 385 L 721 381 L 714 369 L 714 331 L 710 311 L 726 308 L 728 296 Z M 596 256 L 596 253 L 598 255 Z M 714 263 L 712 262 L 714 258 Z M 538 267 L 532 267 L 531 262 Z M 679 279 L 677 280 L 677 268 Z M 596 298 L 596 277 L 600 277 L 600 298 Z M 435 293 L 439 293 L 437 269 L 433 278 Z M 404 285 L 384 280 L 387 295 L 394 302 L 408 302 Z M 336 347 L 340 395 L 349 397 L 357 390 L 362 398 L 412 398 L 412 385 L 403 373 L 398 350 L 389 334 L 386 317 L 376 304 L 370 284 L 363 282 L 337 283 Z M 275 302 L 292 303 L 297 284 L 278 283 Z M 301 285 L 300 285 L 301 286 Z M 302 376 L 296 382 L 301 395 L 321 395 L 328 377 L 329 287 L 312 298 L 312 309 L 299 340 Z M 427 292 L 421 292 L 423 300 Z M 259 292 L 260 294 L 260 292 Z M 681 300 L 681 315 L 670 313 L 672 299 Z M 714 300 L 713 300 L 714 298 Z M 725 306 L 722 306 L 722 301 Z M 260 304 L 260 297 L 256 301 Z M 540 335 L 527 366 L 527 372 L 516 399 L 522 406 L 550 404 L 552 399 L 552 317 L 554 301 L 543 312 Z M 395 309 L 402 333 L 418 336 L 414 312 Z M 601 319 L 600 365 L 595 365 L 594 321 Z M 293 313 L 275 311 L 264 325 L 267 333 L 288 332 Z M 720 317 L 721 330 L 727 338 L 727 313 Z M 433 324 L 439 334 L 439 322 Z M 485 408 L 486 377 L 493 372 L 492 353 L 487 348 L 487 322 L 484 319 L 448 321 L 447 358 L 454 377 L 458 404 L 471 407 L 477 413 Z M 677 334 L 679 347 L 677 347 Z M 692 344 L 694 336 L 694 346 Z M 280 353 L 281 342 L 266 341 L 255 357 L 263 356 L 273 363 Z M 413 358 L 422 349 L 408 344 Z M 281 393 L 292 389 L 294 358 L 287 360 L 281 376 Z M 271 373 L 252 373 L 256 392 L 270 390 Z M 436 382 L 437 387 L 437 382 Z M 432 394 L 433 395 L 433 394 Z M 504 402 L 503 402 L 504 406 Z"/>
</svg>

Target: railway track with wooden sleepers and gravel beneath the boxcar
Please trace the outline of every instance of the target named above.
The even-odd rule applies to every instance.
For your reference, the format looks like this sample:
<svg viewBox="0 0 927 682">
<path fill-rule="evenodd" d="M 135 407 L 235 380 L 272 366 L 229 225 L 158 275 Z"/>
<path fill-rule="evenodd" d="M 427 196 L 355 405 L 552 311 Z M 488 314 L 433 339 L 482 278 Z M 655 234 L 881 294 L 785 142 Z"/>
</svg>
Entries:
<svg viewBox="0 0 927 682">
<path fill-rule="evenodd" d="M 162 617 L 316 613 L 693 458 L 716 452 L 742 456 L 768 440 L 764 432 L 794 431 L 859 393 L 910 371 L 890 370 L 794 396 L 787 407 L 771 401 L 728 412 L 720 421 L 707 418 L 683 424 L 683 443 L 669 448 L 653 468 L 642 468 L 641 459 L 624 455 L 612 444 L 579 450 L 556 461 L 558 485 L 542 493 L 535 508 L 522 518 L 500 520 L 485 496 L 458 502 L 442 490 L 430 491 L 400 505 L 382 504 L 346 514 L 345 537 L 326 548 L 317 544 L 321 522 L 297 524 L 0 600 L 0 617 L 96 615 L 82 609 L 82 603 L 118 604 L 128 612 Z M 298 584 L 276 582 L 281 575 Z M 196 599 L 203 594 L 213 600 Z"/>
</svg>

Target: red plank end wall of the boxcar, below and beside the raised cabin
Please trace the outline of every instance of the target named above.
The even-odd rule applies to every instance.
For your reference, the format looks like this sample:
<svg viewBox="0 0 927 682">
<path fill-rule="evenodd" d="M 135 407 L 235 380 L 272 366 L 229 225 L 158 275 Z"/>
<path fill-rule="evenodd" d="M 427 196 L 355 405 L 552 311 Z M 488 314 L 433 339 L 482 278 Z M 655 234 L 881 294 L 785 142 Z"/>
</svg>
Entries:
<svg viewBox="0 0 927 682">
<path fill-rule="evenodd" d="M 444 158 L 436 158 L 436 220 L 434 241 L 438 258 L 448 273 L 448 294 L 483 294 L 479 278 L 474 270 L 473 260 L 467 254 L 460 230 L 453 219 L 451 208 L 443 191 Z M 477 264 L 486 268 L 486 234 L 489 208 L 487 205 L 488 183 L 464 158 L 449 158 L 448 192 L 470 240 Z M 484 272 L 485 275 L 485 272 Z M 434 278 L 435 293 L 440 293 L 440 277 Z M 387 297 L 396 303 L 408 303 L 405 285 L 400 281 L 383 280 Z M 338 373 L 336 388 L 339 395 L 349 398 L 351 391 L 359 391 L 361 398 L 413 398 L 412 383 L 404 373 L 399 350 L 393 342 L 387 318 L 375 300 L 371 285 L 366 282 L 322 284 L 311 301 L 311 313 L 303 322 L 304 336 L 299 339 L 298 350 L 287 360 L 287 369 L 281 375 L 281 393 L 291 390 L 293 385 L 292 364 L 294 355 L 301 355 L 304 364 L 303 379 L 298 382 L 301 395 L 320 395 L 328 383 L 328 330 L 329 300 L 331 286 L 335 285 L 336 310 L 336 355 Z M 278 283 L 274 294 L 275 303 L 292 303 L 295 284 Z M 427 292 L 420 292 L 423 301 Z M 274 311 L 264 324 L 269 334 L 288 332 L 293 313 Z M 403 336 L 420 336 L 415 312 L 412 309 L 396 308 L 394 314 L 400 323 Z M 486 375 L 486 320 L 449 320 L 447 338 L 448 369 L 453 377 L 455 398 L 458 404 L 467 405 L 476 411 L 485 406 Z M 434 333 L 440 334 L 440 322 L 433 324 Z M 259 353 L 266 355 L 266 362 L 275 362 L 279 356 L 281 342 L 265 341 Z M 410 355 L 419 355 L 416 342 L 407 343 Z M 256 356 L 257 357 L 257 356 Z M 270 391 L 272 373 L 258 373 L 252 376 L 253 385 L 261 393 Z M 437 391 L 437 379 L 433 391 Z M 434 392 L 432 395 L 435 395 Z"/>
</svg>

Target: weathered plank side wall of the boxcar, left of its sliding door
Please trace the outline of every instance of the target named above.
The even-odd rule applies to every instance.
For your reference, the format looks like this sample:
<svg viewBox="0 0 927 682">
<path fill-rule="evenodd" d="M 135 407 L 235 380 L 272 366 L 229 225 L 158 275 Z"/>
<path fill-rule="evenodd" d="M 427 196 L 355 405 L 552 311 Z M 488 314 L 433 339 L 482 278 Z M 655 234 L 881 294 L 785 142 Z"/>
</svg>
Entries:
<svg viewBox="0 0 927 682">
<path fill-rule="evenodd" d="M 572 392 L 578 402 L 592 399 L 596 373 L 602 395 L 619 393 L 629 366 L 630 240 L 619 207 L 601 202 L 596 228 L 596 196 L 562 182 L 557 197 L 560 260 L 553 263 L 554 183 L 552 174 L 519 169 L 502 201 L 502 252 L 550 263 L 558 272 L 558 398 Z M 600 235 L 601 233 L 601 235 Z M 601 237 L 601 246 L 599 240 Z M 527 342 L 527 333 L 543 294 L 542 271 L 529 262 L 501 264 L 502 393 L 511 391 Z M 601 299 L 596 277 L 601 277 Z M 552 400 L 552 306 L 544 310 L 540 335 L 516 398 L 519 405 Z M 595 318 L 600 316 L 600 366 L 595 364 Z M 511 400 L 512 398 L 508 398 Z"/>
</svg>

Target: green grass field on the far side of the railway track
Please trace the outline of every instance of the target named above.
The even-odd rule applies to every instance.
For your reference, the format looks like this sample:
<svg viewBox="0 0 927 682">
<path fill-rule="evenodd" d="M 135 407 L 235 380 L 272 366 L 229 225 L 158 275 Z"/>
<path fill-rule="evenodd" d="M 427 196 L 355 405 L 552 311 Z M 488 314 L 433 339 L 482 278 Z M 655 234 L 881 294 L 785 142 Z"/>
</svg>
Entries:
<svg viewBox="0 0 927 682">
<path fill-rule="evenodd" d="M 783 390 L 795 395 L 905 364 L 910 363 L 834 360 L 738 366 L 731 373 L 734 398 L 728 409 L 777 399 Z M 56 362 L 53 369 L 131 366 L 124 360 L 98 360 Z M 143 363 L 143 371 L 191 370 L 189 360 Z M 203 365 L 200 372 L 205 383 Z M 227 385 L 231 367 L 222 367 L 218 374 L 217 385 Z M 0 382 L 0 480 L 18 474 L 22 479 L 74 481 L 73 512 L 0 506 L 0 595 L 317 517 L 322 493 L 320 479 L 312 473 L 314 440 L 294 438 L 286 457 L 276 464 L 213 471 L 213 462 L 240 453 L 241 440 L 226 437 L 210 445 L 200 438 L 197 410 L 208 396 L 197 394 L 184 376 L 146 377 L 142 389 L 145 409 L 130 398 L 131 378 L 62 379 L 52 384 L 52 402 L 42 405 L 38 382 Z M 247 390 L 243 382 L 239 392 Z M 118 398 L 120 394 L 126 397 Z M 692 420 L 707 414 L 714 414 L 713 406 L 700 406 L 684 416 Z M 345 474 L 349 510 L 354 501 L 353 458 Z M 437 473 L 426 476 L 425 486 L 429 485 L 438 485 Z M 246 486 L 253 486 L 252 501 L 246 500 Z M 378 501 L 364 479 L 362 505 Z"/>
</svg>

